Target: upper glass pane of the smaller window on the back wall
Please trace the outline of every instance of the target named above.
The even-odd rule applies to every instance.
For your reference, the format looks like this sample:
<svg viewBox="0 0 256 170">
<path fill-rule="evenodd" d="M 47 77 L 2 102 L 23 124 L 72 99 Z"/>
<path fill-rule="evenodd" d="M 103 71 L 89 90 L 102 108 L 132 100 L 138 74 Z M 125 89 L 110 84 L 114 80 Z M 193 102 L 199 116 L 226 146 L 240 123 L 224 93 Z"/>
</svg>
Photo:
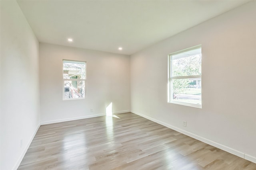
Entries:
<svg viewBox="0 0 256 170">
<path fill-rule="evenodd" d="M 64 79 L 85 79 L 85 63 L 75 61 L 63 61 Z"/>
</svg>

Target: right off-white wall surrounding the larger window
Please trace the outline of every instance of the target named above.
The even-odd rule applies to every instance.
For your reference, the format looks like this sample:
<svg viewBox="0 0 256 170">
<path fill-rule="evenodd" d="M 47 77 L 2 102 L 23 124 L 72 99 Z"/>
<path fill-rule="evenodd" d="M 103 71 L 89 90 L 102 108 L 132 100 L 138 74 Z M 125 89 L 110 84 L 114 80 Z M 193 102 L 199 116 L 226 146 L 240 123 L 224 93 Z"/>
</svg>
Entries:
<svg viewBox="0 0 256 170">
<path fill-rule="evenodd" d="M 256 162 L 255 9 L 250 2 L 132 55 L 131 111 Z M 199 44 L 202 109 L 167 103 L 167 55 Z"/>
</svg>

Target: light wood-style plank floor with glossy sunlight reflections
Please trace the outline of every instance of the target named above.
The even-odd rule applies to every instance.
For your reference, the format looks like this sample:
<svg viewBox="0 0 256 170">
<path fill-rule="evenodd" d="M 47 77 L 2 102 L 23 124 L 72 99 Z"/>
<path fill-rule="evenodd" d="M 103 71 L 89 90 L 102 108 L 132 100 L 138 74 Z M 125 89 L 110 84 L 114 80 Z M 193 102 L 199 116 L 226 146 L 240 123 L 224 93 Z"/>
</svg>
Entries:
<svg viewBox="0 0 256 170">
<path fill-rule="evenodd" d="M 40 126 L 18 170 L 256 170 L 133 113 Z"/>
</svg>

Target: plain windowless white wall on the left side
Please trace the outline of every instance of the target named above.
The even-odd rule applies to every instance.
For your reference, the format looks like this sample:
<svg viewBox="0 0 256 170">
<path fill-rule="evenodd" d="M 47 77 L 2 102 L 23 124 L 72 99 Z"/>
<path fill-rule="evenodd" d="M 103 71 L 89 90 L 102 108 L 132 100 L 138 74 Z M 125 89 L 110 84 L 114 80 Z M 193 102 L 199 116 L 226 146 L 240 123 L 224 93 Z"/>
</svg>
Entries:
<svg viewBox="0 0 256 170">
<path fill-rule="evenodd" d="M 39 44 L 17 2 L 0 3 L 0 168 L 12 170 L 18 168 L 40 125 Z"/>
</svg>

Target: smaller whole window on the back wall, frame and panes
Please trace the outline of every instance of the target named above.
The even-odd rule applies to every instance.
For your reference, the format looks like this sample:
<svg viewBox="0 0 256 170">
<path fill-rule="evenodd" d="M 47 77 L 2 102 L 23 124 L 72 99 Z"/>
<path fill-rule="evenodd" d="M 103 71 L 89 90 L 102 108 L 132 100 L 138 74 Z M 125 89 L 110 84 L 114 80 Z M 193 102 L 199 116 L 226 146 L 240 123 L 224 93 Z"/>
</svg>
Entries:
<svg viewBox="0 0 256 170">
<path fill-rule="evenodd" d="M 86 96 L 86 62 L 63 60 L 63 100 Z"/>
</svg>

